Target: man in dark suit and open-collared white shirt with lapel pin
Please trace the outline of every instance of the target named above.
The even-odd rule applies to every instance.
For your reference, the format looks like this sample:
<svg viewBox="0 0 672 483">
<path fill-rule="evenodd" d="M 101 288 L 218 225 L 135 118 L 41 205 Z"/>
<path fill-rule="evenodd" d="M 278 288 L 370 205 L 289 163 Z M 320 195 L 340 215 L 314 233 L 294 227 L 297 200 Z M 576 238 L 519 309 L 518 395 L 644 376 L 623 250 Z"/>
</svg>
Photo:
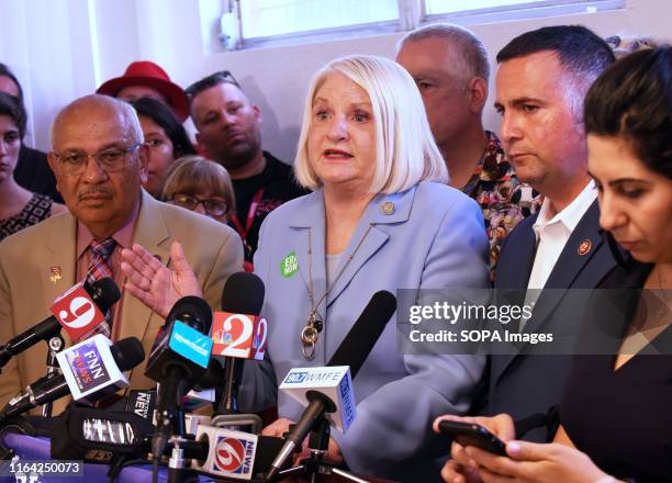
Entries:
<svg viewBox="0 0 672 483">
<path fill-rule="evenodd" d="M 544 195 L 539 212 L 509 234 L 497 265 L 495 289 L 518 289 L 525 303 L 535 302 L 531 317 L 522 321 L 524 333 L 578 329 L 568 328 L 561 316 L 578 308 L 576 294 L 567 289 L 594 288 L 616 265 L 600 234 L 582 121 L 590 86 L 613 61 L 602 38 L 569 25 L 524 33 L 497 54 L 495 108 L 502 114 L 502 143 L 520 180 Z M 573 318 L 578 324 L 580 318 Z M 527 346 L 490 357 L 486 395 L 477 402 L 475 414 L 506 413 L 520 420 L 559 404 L 571 355 L 535 351 Z M 491 426 L 501 428 L 501 420 L 491 420 Z M 513 428 L 502 434 L 512 437 Z M 548 436 L 546 427 L 538 427 L 524 438 L 544 441 Z M 453 460 L 441 474 L 450 479 L 462 468 Z"/>
</svg>

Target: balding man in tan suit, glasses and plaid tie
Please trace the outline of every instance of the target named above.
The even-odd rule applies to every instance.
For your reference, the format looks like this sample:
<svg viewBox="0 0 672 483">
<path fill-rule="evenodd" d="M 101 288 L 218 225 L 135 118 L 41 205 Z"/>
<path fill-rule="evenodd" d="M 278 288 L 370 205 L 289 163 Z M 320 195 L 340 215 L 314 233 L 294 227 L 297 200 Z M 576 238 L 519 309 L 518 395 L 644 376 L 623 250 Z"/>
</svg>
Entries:
<svg viewBox="0 0 672 483">
<path fill-rule="evenodd" d="M 189 260 L 204 299 L 219 308 L 226 278 L 242 270 L 242 242 L 224 224 L 155 201 L 141 188 L 148 150 L 133 108 L 104 96 L 78 99 L 57 115 L 52 144 L 49 165 L 69 212 L 0 244 L 0 342 L 48 316 L 54 299 L 90 276 L 96 263 L 92 247 L 105 240 L 113 240 L 105 263 L 122 289 L 122 299 L 111 311 L 114 341 L 135 336 L 148 355 L 164 324 L 123 290 L 121 251 L 133 244 L 146 247 L 169 267 Z M 65 330 L 61 335 L 70 345 Z M 40 342 L 2 369 L 0 405 L 45 375 L 46 352 L 46 344 Z M 132 387 L 155 385 L 144 369 L 141 364 L 132 371 Z M 57 402 L 54 414 L 65 404 L 67 398 Z"/>
</svg>

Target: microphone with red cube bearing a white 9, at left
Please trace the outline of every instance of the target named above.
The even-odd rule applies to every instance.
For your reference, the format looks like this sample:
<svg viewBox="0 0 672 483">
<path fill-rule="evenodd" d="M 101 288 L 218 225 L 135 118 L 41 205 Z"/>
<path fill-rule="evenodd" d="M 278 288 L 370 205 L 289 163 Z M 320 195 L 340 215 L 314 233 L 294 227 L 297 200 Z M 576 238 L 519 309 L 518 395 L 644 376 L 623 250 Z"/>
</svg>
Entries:
<svg viewBox="0 0 672 483">
<path fill-rule="evenodd" d="M 61 328 L 68 332 L 72 340 L 77 340 L 77 337 L 72 336 L 82 329 L 81 335 L 83 335 L 93 325 L 104 321 L 104 314 L 120 297 L 119 288 L 110 278 L 97 280 L 92 284 L 76 284 L 56 299 L 51 308 L 54 315 L 0 347 L 0 368 L 4 367 L 13 356 L 30 349 L 38 341 L 57 336 Z M 55 310 L 56 307 L 59 310 Z M 83 328 L 77 328 L 82 322 Z"/>
</svg>

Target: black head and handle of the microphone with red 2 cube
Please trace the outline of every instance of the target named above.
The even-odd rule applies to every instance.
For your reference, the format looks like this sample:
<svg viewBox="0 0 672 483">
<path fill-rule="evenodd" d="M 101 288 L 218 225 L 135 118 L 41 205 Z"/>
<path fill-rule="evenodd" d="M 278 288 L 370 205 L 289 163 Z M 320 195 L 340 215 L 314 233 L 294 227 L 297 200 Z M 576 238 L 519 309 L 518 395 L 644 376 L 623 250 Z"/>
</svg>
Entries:
<svg viewBox="0 0 672 483">
<path fill-rule="evenodd" d="M 256 274 L 248 272 L 233 273 L 226 280 L 222 291 L 222 312 L 257 316 L 261 313 L 265 294 L 264 282 Z M 224 358 L 223 414 L 238 412 L 238 389 L 244 360 L 235 357 Z"/>
</svg>

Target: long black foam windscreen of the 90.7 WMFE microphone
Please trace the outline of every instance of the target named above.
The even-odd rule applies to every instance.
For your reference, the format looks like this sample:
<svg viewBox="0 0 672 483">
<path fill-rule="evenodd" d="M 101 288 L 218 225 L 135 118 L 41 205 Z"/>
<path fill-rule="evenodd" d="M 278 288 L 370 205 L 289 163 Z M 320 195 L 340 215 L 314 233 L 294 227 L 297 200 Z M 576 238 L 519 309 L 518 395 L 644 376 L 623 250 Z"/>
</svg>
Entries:
<svg viewBox="0 0 672 483">
<path fill-rule="evenodd" d="M 387 290 L 376 292 L 327 366 L 349 366 L 354 379 L 394 311 L 396 297 Z"/>
</svg>

